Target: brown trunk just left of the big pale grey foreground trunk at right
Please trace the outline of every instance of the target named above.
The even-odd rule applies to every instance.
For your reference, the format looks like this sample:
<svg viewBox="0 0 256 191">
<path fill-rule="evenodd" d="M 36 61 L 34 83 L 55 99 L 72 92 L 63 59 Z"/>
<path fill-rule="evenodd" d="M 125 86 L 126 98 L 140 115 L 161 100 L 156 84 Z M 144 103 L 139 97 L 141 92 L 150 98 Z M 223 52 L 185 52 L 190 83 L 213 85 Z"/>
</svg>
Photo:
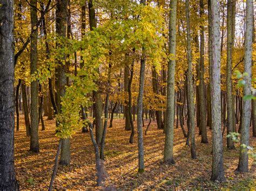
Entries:
<svg viewBox="0 0 256 191">
<path fill-rule="evenodd" d="M 200 18 L 204 17 L 204 1 L 200 0 Z M 199 115 L 200 115 L 200 128 L 201 129 L 201 143 L 208 143 L 207 129 L 206 129 L 206 100 L 205 100 L 205 83 L 204 83 L 204 26 L 200 26 L 200 67 L 199 67 Z"/>
</svg>

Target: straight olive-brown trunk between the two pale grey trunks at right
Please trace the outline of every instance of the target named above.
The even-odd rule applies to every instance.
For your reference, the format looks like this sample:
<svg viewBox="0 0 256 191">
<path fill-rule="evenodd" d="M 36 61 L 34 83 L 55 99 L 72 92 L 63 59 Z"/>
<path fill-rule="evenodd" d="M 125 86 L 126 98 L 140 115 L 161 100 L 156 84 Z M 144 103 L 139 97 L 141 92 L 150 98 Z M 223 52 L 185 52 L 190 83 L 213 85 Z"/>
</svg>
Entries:
<svg viewBox="0 0 256 191">
<path fill-rule="evenodd" d="M 227 69 L 226 69 L 226 91 L 227 91 L 227 135 L 233 132 L 233 98 L 232 98 L 232 4 L 234 0 L 227 1 Z M 227 138 L 227 148 L 234 149 L 232 138 Z"/>
</svg>

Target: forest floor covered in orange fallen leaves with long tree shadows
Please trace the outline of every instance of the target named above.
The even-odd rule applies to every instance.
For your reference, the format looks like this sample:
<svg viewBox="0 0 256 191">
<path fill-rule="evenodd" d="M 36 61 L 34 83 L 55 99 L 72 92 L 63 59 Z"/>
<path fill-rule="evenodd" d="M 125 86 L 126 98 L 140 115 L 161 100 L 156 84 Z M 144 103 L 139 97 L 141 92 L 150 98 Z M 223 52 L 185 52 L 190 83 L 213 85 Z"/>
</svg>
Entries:
<svg viewBox="0 0 256 191">
<path fill-rule="evenodd" d="M 40 153 L 29 152 L 29 138 L 26 137 L 24 116 L 20 118 L 20 130 L 15 132 L 15 169 L 21 189 L 48 189 L 58 138 L 55 121 L 45 118 L 44 131 L 39 131 Z M 145 125 L 149 121 L 145 120 Z M 134 123 L 136 125 L 136 123 Z M 41 128 L 41 126 L 40 126 Z M 146 128 L 146 127 L 145 127 Z M 144 131 L 145 131 L 144 128 Z M 196 128 L 198 130 L 198 128 Z M 137 131 L 136 131 L 137 132 Z M 256 165 L 250 159 L 250 172 L 237 173 L 239 150 L 224 147 L 224 183 L 212 182 L 211 177 L 211 130 L 208 130 L 208 144 L 200 143 L 196 136 L 197 159 L 191 159 L 190 148 L 185 146 L 181 128 L 174 129 L 174 160 L 176 164 L 163 163 L 165 136 L 152 122 L 144 135 L 145 172 L 138 173 L 137 135 L 135 143 L 129 143 L 130 131 L 124 130 L 124 120 L 114 119 L 113 128 L 107 129 L 105 146 L 105 186 L 117 189 L 252 189 L 256 188 Z M 256 138 L 250 137 L 250 145 L 256 146 Z M 224 140 L 224 145 L 226 140 Z M 236 145 L 238 148 L 238 144 Z M 96 187 L 95 153 L 89 133 L 78 132 L 71 139 L 71 164 L 58 167 L 53 184 L 55 189 L 102 189 Z"/>
</svg>

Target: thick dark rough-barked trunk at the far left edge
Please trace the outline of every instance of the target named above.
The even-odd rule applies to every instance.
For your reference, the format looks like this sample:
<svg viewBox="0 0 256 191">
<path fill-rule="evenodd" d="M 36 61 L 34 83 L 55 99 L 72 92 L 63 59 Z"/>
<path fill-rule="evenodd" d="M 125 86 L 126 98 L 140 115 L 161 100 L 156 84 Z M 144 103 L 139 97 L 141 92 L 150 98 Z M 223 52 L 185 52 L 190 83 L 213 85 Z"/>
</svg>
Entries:
<svg viewBox="0 0 256 191">
<path fill-rule="evenodd" d="M 0 190 L 18 190 L 14 169 L 14 1 L 1 1 L 0 23 Z"/>
</svg>

